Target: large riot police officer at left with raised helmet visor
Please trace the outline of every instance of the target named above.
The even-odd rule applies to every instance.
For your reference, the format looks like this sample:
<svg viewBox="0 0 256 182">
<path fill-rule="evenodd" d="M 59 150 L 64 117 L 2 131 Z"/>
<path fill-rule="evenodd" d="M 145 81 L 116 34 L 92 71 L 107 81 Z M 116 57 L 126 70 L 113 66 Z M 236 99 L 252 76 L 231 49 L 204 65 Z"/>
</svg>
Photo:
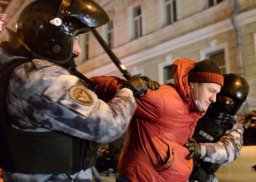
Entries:
<svg viewBox="0 0 256 182">
<path fill-rule="evenodd" d="M 100 143 L 119 138 L 148 82 L 134 76 L 105 103 L 76 70 L 79 34 L 109 22 L 92 0 L 36 0 L 0 46 L 3 179 L 90 181 Z M 86 82 L 86 83 L 85 83 Z M 93 85 L 95 86 L 95 85 Z"/>
</svg>

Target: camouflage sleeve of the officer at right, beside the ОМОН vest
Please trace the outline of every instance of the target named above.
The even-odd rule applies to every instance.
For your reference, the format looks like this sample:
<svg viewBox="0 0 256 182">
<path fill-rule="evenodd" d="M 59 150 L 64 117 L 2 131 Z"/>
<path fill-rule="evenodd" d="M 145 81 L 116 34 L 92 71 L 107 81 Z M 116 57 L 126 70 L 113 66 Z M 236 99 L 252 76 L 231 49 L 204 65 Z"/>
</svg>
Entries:
<svg viewBox="0 0 256 182">
<path fill-rule="evenodd" d="M 201 145 L 202 160 L 221 165 L 233 162 L 239 155 L 243 146 L 244 128 L 235 122 L 233 128 L 228 130 L 216 143 L 199 143 Z"/>
</svg>

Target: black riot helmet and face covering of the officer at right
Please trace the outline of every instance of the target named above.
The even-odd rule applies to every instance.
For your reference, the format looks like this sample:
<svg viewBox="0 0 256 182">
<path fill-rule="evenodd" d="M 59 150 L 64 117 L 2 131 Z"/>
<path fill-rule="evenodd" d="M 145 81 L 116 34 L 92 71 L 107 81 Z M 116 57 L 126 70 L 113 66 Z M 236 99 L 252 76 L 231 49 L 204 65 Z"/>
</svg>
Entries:
<svg viewBox="0 0 256 182">
<path fill-rule="evenodd" d="M 216 96 L 216 102 L 211 103 L 211 107 L 209 107 L 209 112 L 218 118 L 234 116 L 249 94 L 249 85 L 244 78 L 236 74 L 225 74 L 223 77 L 224 85 Z M 228 97 L 234 103 L 223 103 L 219 99 L 220 96 Z"/>
</svg>

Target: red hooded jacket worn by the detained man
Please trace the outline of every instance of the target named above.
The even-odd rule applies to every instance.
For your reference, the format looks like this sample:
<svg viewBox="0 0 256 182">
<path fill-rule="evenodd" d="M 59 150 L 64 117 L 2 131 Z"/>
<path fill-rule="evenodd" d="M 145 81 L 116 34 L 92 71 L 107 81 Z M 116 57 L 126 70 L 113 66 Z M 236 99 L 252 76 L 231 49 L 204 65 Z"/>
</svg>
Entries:
<svg viewBox="0 0 256 182">
<path fill-rule="evenodd" d="M 188 59 L 174 61 L 175 85 L 149 89 L 137 99 L 118 167 L 130 182 L 188 180 L 193 161 L 185 159 L 189 151 L 183 145 L 202 117 L 187 82 L 187 73 L 195 63 Z"/>
</svg>

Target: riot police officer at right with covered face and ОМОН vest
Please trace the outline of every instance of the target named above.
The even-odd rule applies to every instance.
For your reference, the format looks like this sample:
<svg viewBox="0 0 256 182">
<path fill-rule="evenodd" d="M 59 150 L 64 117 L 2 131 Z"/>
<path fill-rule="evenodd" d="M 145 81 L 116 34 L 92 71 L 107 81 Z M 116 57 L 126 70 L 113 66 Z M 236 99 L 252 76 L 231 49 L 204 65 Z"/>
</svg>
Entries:
<svg viewBox="0 0 256 182">
<path fill-rule="evenodd" d="M 216 102 L 211 103 L 204 117 L 199 119 L 192 138 L 185 147 L 187 158 L 194 159 L 189 182 L 218 182 L 214 172 L 220 165 L 233 162 L 243 146 L 243 126 L 236 119 L 249 94 L 246 80 L 236 74 L 226 74 Z"/>
</svg>

